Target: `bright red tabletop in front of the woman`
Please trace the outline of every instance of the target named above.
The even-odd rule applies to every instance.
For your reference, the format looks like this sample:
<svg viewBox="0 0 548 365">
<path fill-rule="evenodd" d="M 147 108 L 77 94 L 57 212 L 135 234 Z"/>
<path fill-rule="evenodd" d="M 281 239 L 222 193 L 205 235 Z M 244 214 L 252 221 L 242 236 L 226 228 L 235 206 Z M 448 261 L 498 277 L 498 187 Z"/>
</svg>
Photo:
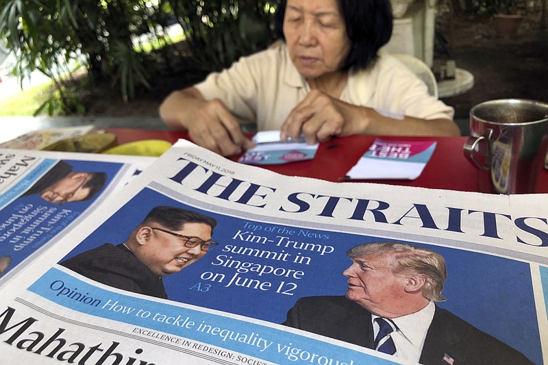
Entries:
<svg viewBox="0 0 548 365">
<path fill-rule="evenodd" d="M 175 143 L 188 139 L 184 131 L 107 128 L 116 134 L 119 144 L 135 140 L 162 139 Z M 466 137 L 382 137 L 384 140 L 436 140 L 436 150 L 423 173 L 415 180 L 360 180 L 379 184 L 420 186 L 446 190 L 488 192 L 484 171 L 475 168 L 462 153 Z M 375 136 L 335 138 L 320 144 L 314 160 L 283 165 L 264 166 L 289 176 L 315 177 L 327 181 L 341 181 L 345 173 L 369 149 Z M 234 159 L 235 160 L 235 159 Z M 262 166 L 263 167 L 263 166 Z M 548 171 L 543 169 L 537 192 L 548 192 Z"/>
</svg>

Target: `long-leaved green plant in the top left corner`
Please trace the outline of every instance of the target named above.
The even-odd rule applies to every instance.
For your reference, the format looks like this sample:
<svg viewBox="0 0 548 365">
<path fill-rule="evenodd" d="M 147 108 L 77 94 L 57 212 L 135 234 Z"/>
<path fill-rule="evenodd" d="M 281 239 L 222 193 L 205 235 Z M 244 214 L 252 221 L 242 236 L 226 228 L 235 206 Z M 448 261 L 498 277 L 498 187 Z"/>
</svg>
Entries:
<svg viewBox="0 0 548 365">
<path fill-rule="evenodd" d="M 134 50 L 140 34 L 158 34 L 165 16 L 158 5 L 139 0 L 0 0 L 0 36 L 16 55 L 21 84 L 38 70 L 55 82 L 63 105 L 63 83 L 85 66 L 95 79 L 108 79 L 124 99 L 136 85 L 149 85 L 145 53 Z M 71 110 L 68 110 L 69 112 Z M 74 112 L 74 111 L 73 111 Z"/>
</svg>

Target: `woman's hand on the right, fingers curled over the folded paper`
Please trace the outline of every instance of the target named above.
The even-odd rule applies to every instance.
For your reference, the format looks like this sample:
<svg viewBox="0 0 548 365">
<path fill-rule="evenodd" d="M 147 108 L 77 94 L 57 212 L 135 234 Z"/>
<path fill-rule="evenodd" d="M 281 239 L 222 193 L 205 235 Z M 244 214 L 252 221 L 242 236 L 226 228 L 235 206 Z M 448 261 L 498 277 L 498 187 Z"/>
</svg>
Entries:
<svg viewBox="0 0 548 365">
<path fill-rule="evenodd" d="M 299 138 L 302 133 L 308 144 L 325 142 L 333 136 L 360 134 L 360 108 L 311 90 L 289 113 L 280 129 L 282 140 Z"/>
</svg>

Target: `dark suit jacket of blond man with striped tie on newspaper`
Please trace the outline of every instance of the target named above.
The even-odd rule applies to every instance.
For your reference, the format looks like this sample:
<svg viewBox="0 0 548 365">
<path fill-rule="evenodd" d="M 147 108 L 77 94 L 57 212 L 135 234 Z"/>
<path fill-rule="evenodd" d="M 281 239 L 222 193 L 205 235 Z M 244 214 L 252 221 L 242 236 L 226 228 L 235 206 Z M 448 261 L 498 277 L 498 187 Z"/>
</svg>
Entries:
<svg viewBox="0 0 548 365">
<path fill-rule="evenodd" d="M 346 297 L 306 297 L 295 303 L 284 325 L 373 349 L 371 312 Z M 532 364 L 523 354 L 436 307 L 421 353 L 421 364 Z"/>
</svg>

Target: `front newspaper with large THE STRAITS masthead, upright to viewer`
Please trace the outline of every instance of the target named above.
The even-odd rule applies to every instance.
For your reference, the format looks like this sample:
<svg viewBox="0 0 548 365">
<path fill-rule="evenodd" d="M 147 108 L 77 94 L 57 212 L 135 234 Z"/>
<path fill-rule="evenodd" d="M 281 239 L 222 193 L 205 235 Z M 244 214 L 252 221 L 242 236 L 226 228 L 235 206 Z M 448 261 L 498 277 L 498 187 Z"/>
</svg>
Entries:
<svg viewBox="0 0 548 365">
<path fill-rule="evenodd" d="M 425 364 L 545 364 L 547 203 L 546 194 L 506 196 L 286 177 L 179 141 L 3 286 L 2 360 L 348 365 L 409 364 L 419 362 L 409 359 L 420 355 Z M 217 225 L 203 231 L 204 223 L 189 223 L 181 233 L 146 221 L 157 207 L 197 212 L 214 218 Z M 105 281 L 89 279 L 76 272 L 77 265 L 68 264 L 85 262 L 84 256 L 95 252 L 90 250 L 108 242 L 120 251 L 103 256 L 100 263 L 119 255 L 127 257 L 129 266 L 135 261 L 129 255 L 137 257 L 152 240 L 168 244 L 173 234 L 188 236 L 179 237 L 180 242 L 190 242 L 192 236 L 197 240 L 193 250 L 208 244 L 210 249 L 194 251 L 192 257 L 178 254 L 170 262 L 173 272 L 158 275 L 158 287 L 163 286 L 167 299 L 129 286 L 120 289 L 121 282 L 102 284 Z M 213 247 L 210 240 L 219 244 Z M 403 346 L 395 355 L 386 355 L 357 344 L 367 333 L 329 324 L 332 316 L 351 311 L 336 313 L 336 306 L 322 303 L 356 297 L 358 284 L 351 270 L 371 269 L 362 263 L 354 267 L 357 263 L 347 251 L 386 241 L 426 248 L 445 258 L 447 301 L 436 302 L 436 313 L 443 308 L 466 333 L 482 333 L 478 338 L 487 342 L 465 336 L 462 346 L 453 336 L 453 348 L 426 355 L 432 340 L 443 340 L 427 333 L 417 345 L 419 353 Z M 167 246 L 148 258 L 166 251 Z M 142 257 L 139 260 L 145 260 Z M 195 262 L 187 267 L 187 260 Z M 167 266 L 162 270 L 169 271 Z M 389 277 L 369 281 L 367 290 L 388 285 Z M 406 288 L 408 284 L 417 283 L 406 282 Z M 299 305 L 310 297 L 318 304 L 308 316 L 332 314 L 310 322 L 320 333 L 300 326 L 306 320 L 299 317 L 305 314 Z M 416 327 L 434 331 L 435 318 L 432 325 Z M 362 319 L 346 320 L 346 325 L 353 327 Z M 407 331 L 404 336 L 414 338 L 417 333 Z M 495 345 L 501 350 L 493 352 Z M 511 357 L 479 360 L 489 352 Z"/>
</svg>

